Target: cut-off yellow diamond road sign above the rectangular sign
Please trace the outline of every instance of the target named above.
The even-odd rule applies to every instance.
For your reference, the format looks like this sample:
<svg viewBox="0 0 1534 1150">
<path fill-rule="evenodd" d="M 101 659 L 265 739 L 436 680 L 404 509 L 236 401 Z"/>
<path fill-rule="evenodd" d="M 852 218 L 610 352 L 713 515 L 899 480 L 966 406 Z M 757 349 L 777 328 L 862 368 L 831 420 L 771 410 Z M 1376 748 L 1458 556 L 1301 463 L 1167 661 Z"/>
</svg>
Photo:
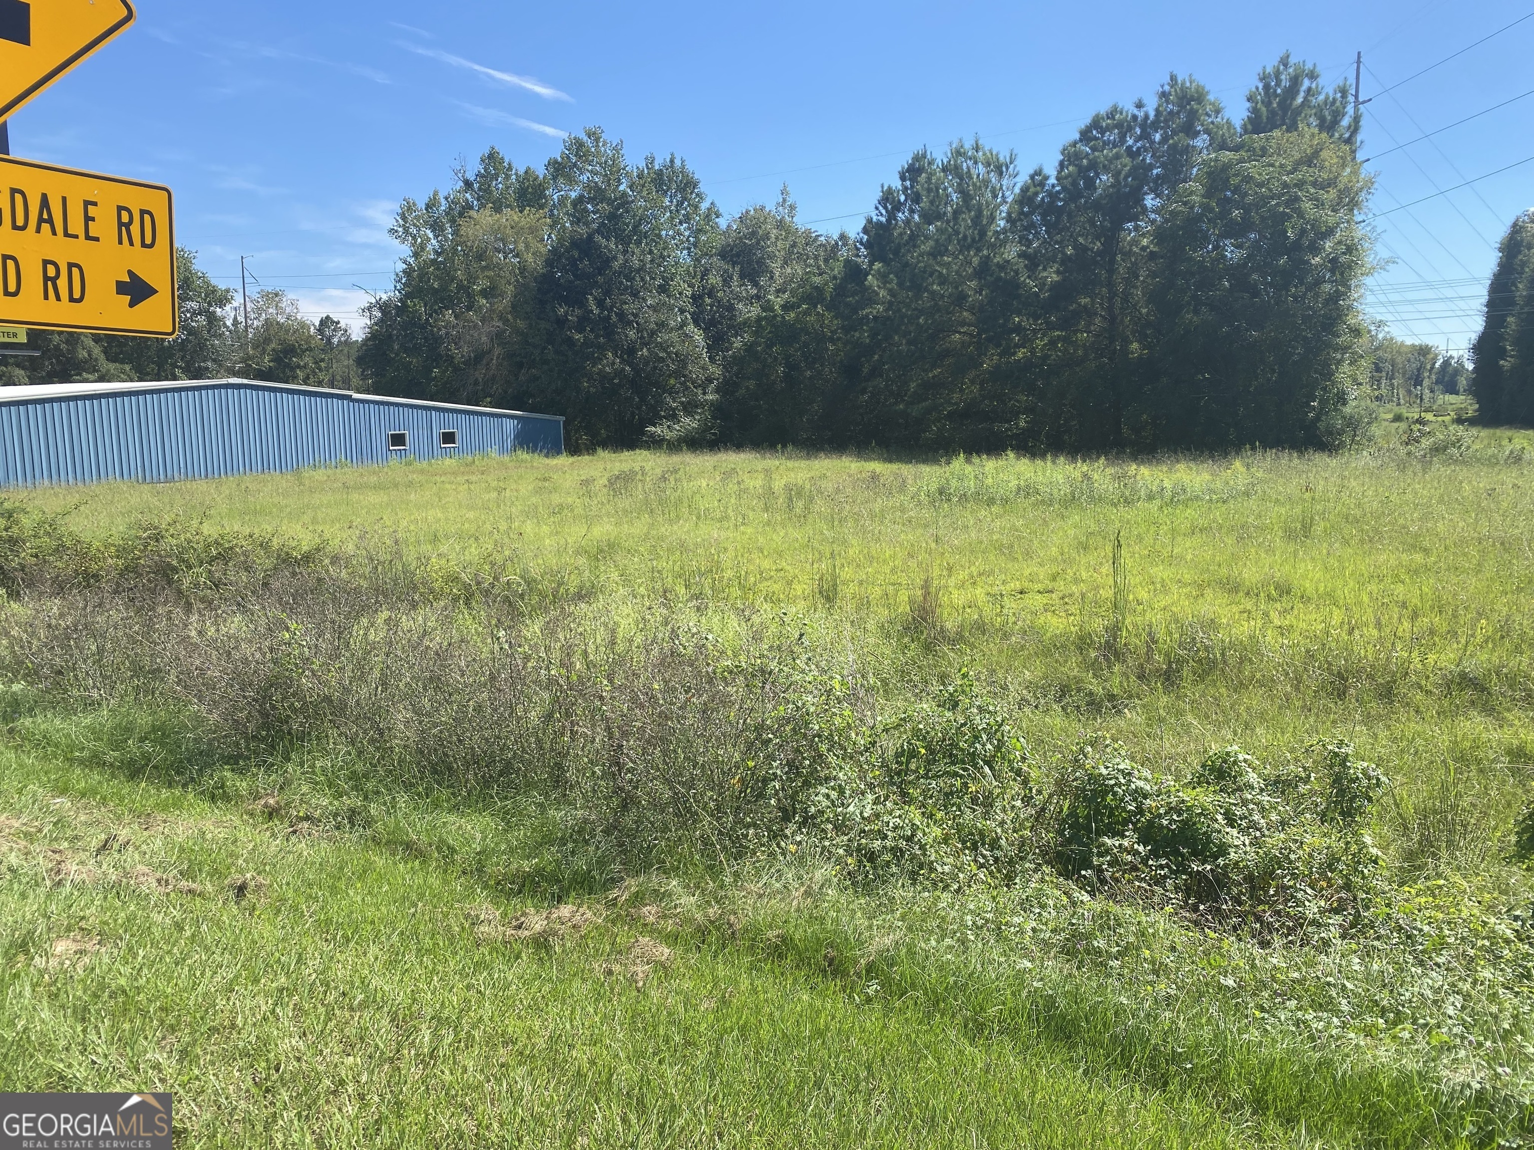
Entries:
<svg viewBox="0 0 1534 1150">
<path fill-rule="evenodd" d="M 0 0 L 0 120 L 121 34 L 130 0 Z"/>
</svg>

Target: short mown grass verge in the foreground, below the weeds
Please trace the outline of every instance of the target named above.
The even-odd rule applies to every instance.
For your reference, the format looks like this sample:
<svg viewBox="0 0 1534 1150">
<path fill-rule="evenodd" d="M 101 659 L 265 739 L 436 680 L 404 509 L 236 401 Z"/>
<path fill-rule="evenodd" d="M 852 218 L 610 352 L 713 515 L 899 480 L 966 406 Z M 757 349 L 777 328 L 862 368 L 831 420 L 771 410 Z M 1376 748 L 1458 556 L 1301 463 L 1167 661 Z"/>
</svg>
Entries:
<svg viewBox="0 0 1534 1150">
<path fill-rule="evenodd" d="M 653 903 L 502 940 L 494 891 L 344 839 L 15 753 L 0 794 L 0 1073 L 164 1084 L 196 1145 L 1304 1144 Z"/>
</svg>

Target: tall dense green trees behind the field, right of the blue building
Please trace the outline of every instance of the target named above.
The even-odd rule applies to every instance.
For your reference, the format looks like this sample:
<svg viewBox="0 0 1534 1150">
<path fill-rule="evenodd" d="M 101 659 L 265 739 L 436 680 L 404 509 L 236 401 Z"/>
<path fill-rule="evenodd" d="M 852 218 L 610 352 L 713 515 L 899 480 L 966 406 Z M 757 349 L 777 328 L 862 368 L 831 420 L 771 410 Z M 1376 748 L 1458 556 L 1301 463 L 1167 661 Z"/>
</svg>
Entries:
<svg viewBox="0 0 1534 1150">
<path fill-rule="evenodd" d="M 577 446 L 1321 445 L 1368 376 L 1347 84 L 1287 55 L 1241 123 L 1192 78 L 1052 172 L 917 150 L 858 235 L 784 190 L 724 221 L 598 129 L 405 201 L 359 365 L 387 394 L 551 411 Z"/>
</svg>

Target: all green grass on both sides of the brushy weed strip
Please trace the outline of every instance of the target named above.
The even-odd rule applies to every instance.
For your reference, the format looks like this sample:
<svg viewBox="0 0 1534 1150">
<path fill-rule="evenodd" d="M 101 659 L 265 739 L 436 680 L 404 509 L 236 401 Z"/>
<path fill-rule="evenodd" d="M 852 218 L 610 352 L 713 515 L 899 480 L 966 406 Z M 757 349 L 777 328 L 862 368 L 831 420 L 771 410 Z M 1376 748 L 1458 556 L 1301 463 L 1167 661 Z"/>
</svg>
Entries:
<svg viewBox="0 0 1534 1150">
<path fill-rule="evenodd" d="M 488 587 L 597 646 L 663 624 L 726 652 L 787 636 L 881 715 L 969 669 L 1040 779 L 1097 733 L 1180 779 L 1232 742 L 1281 768 L 1345 739 L 1388 776 L 1367 831 L 1410 929 L 1273 937 L 1045 871 L 848 886 L 810 843 L 581 869 L 572 823 L 531 793 L 434 773 L 472 767 L 451 731 L 411 744 L 408 773 L 373 765 L 403 744 L 345 716 L 207 744 L 172 705 L 218 711 L 193 688 L 117 670 L 49 688 L 12 644 L 11 676 L 37 679 L 12 690 L 0 765 L 17 1087 L 173 1089 L 196 1144 L 1529 1129 L 1534 951 L 1509 862 L 1534 782 L 1525 437 L 1141 463 L 462 460 L 20 498 L 87 540 L 179 517 L 324 541 L 469 604 L 400 623 L 396 659 L 407 639 L 437 652 L 433 629 L 485 635 L 463 589 Z M 69 593 L 21 587 L 8 610 L 46 647 Z M 112 834 L 130 845 L 98 851 Z M 264 888 L 236 899 L 245 872 Z M 561 900 L 569 922 L 518 918 Z"/>
</svg>

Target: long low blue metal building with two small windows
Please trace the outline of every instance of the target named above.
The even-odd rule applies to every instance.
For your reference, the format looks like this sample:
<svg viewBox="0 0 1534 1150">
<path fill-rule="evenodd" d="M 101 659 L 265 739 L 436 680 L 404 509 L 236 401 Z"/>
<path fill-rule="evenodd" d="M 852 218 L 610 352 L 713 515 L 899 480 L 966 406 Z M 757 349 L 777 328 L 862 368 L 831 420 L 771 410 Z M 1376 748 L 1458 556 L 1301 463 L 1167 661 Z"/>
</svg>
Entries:
<svg viewBox="0 0 1534 1150">
<path fill-rule="evenodd" d="M 215 379 L 0 388 L 0 488 L 565 451 L 561 416 Z"/>
</svg>

